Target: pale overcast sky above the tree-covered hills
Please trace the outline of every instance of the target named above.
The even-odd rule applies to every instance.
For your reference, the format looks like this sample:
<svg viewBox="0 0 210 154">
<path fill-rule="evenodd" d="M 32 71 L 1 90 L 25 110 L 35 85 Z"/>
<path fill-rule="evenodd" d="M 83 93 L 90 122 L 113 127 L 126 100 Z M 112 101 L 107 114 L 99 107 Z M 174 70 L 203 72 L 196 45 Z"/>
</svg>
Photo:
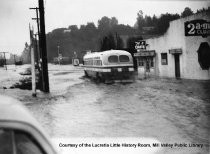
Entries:
<svg viewBox="0 0 210 154">
<path fill-rule="evenodd" d="M 116 17 L 120 24 L 133 26 L 137 12 L 144 15 L 161 13 L 181 13 L 185 7 L 194 12 L 210 6 L 209 0 L 44 0 L 46 32 L 69 25 L 87 24 L 103 16 Z M 29 7 L 37 7 L 38 0 L 0 0 L 0 52 L 21 53 L 24 43 L 29 42 L 29 23 L 36 17 Z"/>
</svg>

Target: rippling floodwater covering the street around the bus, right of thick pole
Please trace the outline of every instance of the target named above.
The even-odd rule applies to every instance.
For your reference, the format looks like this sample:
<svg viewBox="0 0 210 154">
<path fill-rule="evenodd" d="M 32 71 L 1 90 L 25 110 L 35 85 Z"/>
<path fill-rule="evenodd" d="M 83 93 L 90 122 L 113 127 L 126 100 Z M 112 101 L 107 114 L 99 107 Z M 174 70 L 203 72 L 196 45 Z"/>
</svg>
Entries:
<svg viewBox="0 0 210 154">
<path fill-rule="evenodd" d="M 210 82 L 136 80 L 103 84 L 83 77 L 80 67 L 50 65 L 50 94 L 22 97 L 55 137 L 145 137 L 161 143 L 199 143 L 161 153 L 209 152 Z"/>
</svg>

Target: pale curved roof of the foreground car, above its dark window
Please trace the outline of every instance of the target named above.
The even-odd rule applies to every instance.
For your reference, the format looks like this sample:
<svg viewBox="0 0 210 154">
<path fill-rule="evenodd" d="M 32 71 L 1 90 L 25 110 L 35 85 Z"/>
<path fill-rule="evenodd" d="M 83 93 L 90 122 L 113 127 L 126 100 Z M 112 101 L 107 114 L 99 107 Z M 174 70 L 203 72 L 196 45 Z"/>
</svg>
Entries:
<svg viewBox="0 0 210 154">
<path fill-rule="evenodd" d="M 36 139 L 48 145 L 47 151 L 56 153 L 41 125 L 18 100 L 0 95 L 0 128 L 18 129 L 32 134 Z M 51 148 L 49 148 L 51 147 Z"/>
</svg>

